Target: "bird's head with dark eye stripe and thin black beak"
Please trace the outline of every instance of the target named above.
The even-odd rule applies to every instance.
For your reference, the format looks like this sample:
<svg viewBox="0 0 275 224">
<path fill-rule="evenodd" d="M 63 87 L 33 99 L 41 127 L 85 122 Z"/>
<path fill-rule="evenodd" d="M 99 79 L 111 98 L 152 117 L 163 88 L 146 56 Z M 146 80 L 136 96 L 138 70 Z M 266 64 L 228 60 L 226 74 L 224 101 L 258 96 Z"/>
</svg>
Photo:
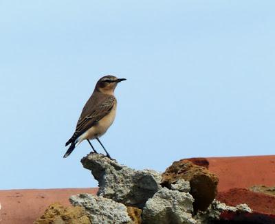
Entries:
<svg viewBox="0 0 275 224">
<path fill-rule="evenodd" d="M 118 82 L 124 81 L 126 78 L 117 78 L 115 76 L 103 76 L 96 83 L 96 91 L 102 93 L 113 94 Z"/>
</svg>

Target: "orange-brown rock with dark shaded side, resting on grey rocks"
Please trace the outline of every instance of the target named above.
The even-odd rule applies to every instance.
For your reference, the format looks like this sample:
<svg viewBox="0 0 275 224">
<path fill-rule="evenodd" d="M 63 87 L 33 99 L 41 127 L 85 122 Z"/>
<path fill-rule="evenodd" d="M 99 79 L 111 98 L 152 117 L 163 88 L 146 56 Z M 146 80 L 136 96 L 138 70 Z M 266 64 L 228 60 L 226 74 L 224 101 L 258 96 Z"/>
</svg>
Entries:
<svg viewBox="0 0 275 224">
<path fill-rule="evenodd" d="M 162 186 L 171 189 L 179 179 L 190 182 L 190 194 L 194 197 L 194 210 L 206 210 L 217 195 L 219 179 L 203 166 L 181 159 L 175 161 L 162 174 Z"/>
</svg>

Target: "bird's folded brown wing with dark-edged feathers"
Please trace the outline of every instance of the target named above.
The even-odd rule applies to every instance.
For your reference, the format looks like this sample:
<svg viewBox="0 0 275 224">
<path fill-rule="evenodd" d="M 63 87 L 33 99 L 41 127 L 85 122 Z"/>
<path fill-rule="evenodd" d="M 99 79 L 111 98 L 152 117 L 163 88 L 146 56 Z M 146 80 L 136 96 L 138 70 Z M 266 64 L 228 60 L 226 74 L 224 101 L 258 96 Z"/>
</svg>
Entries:
<svg viewBox="0 0 275 224">
<path fill-rule="evenodd" d="M 96 101 L 96 103 L 93 103 L 93 101 Z M 76 124 L 76 131 L 66 145 L 70 142 L 74 142 L 80 135 L 100 121 L 111 111 L 114 104 L 114 96 L 101 96 L 96 100 L 88 100 L 83 108 L 83 113 L 80 115 L 78 123 Z"/>
</svg>

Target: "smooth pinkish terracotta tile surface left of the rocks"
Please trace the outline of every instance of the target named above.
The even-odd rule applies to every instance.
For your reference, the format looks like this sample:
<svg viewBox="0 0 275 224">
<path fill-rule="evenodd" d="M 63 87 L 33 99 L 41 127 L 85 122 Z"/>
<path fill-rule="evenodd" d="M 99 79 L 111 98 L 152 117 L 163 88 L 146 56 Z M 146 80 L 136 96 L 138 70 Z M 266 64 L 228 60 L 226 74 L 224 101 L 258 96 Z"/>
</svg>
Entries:
<svg viewBox="0 0 275 224">
<path fill-rule="evenodd" d="M 96 194 L 96 188 L 63 188 L 32 190 L 0 190 L 1 224 L 34 223 L 53 203 L 71 206 L 69 197 L 75 194 Z"/>
</svg>

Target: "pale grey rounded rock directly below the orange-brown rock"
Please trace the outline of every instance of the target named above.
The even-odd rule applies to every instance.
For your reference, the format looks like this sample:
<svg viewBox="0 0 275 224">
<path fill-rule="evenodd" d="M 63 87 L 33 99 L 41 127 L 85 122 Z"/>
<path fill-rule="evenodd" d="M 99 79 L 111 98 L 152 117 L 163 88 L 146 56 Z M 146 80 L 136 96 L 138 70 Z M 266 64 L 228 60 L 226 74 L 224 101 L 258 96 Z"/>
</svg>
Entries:
<svg viewBox="0 0 275 224">
<path fill-rule="evenodd" d="M 192 219 L 192 203 L 189 193 L 162 188 L 145 204 L 142 218 L 148 224 L 195 224 Z"/>
</svg>

